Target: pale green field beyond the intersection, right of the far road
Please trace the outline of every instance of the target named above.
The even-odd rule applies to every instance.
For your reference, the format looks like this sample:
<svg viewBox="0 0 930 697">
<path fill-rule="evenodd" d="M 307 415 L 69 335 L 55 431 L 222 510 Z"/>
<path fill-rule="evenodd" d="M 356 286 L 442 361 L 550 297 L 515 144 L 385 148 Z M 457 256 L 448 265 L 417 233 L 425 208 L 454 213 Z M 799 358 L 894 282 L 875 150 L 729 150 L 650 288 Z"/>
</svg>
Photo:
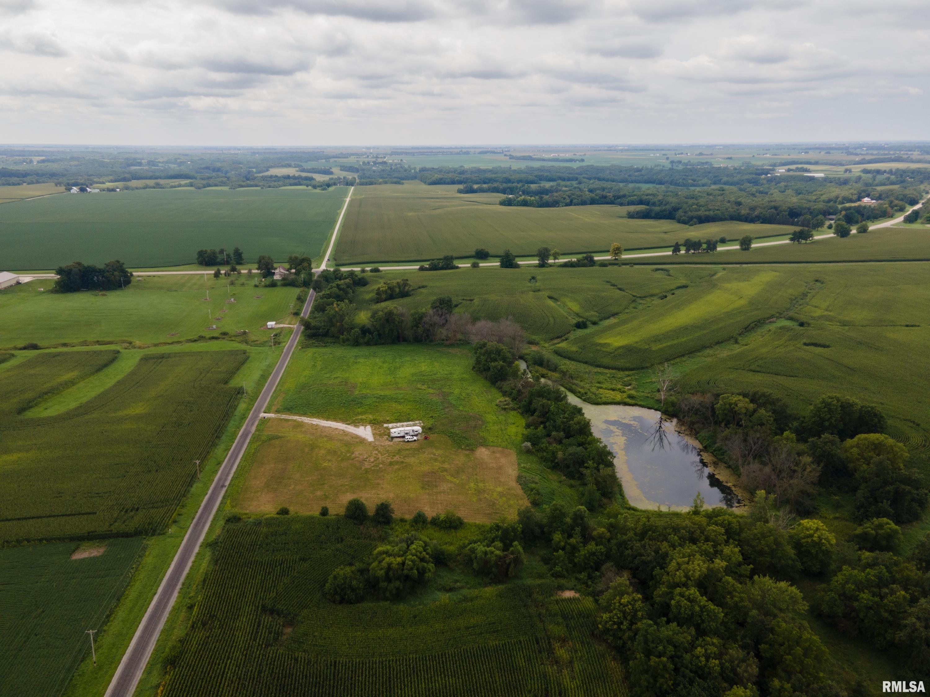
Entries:
<svg viewBox="0 0 930 697">
<path fill-rule="evenodd" d="M 786 226 L 737 222 L 688 227 L 673 220 L 637 220 L 629 208 L 579 205 L 528 208 L 498 205 L 500 194 L 459 194 L 456 186 L 419 181 L 358 187 L 346 211 L 336 260 L 340 265 L 471 257 L 478 247 L 500 255 L 534 255 L 540 246 L 563 255 L 671 245 L 685 237 L 738 239 L 790 232 Z"/>
</svg>

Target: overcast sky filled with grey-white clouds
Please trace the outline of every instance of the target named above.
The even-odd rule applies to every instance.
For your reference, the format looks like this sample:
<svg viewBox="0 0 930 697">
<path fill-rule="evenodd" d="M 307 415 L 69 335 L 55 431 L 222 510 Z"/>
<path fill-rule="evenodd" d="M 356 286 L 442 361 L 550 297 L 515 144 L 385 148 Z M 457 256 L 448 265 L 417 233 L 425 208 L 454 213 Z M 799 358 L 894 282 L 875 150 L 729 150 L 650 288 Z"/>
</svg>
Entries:
<svg viewBox="0 0 930 697">
<path fill-rule="evenodd" d="M 0 0 L 0 142 L 930 139 L 926 0 Z"/>
</svg>

